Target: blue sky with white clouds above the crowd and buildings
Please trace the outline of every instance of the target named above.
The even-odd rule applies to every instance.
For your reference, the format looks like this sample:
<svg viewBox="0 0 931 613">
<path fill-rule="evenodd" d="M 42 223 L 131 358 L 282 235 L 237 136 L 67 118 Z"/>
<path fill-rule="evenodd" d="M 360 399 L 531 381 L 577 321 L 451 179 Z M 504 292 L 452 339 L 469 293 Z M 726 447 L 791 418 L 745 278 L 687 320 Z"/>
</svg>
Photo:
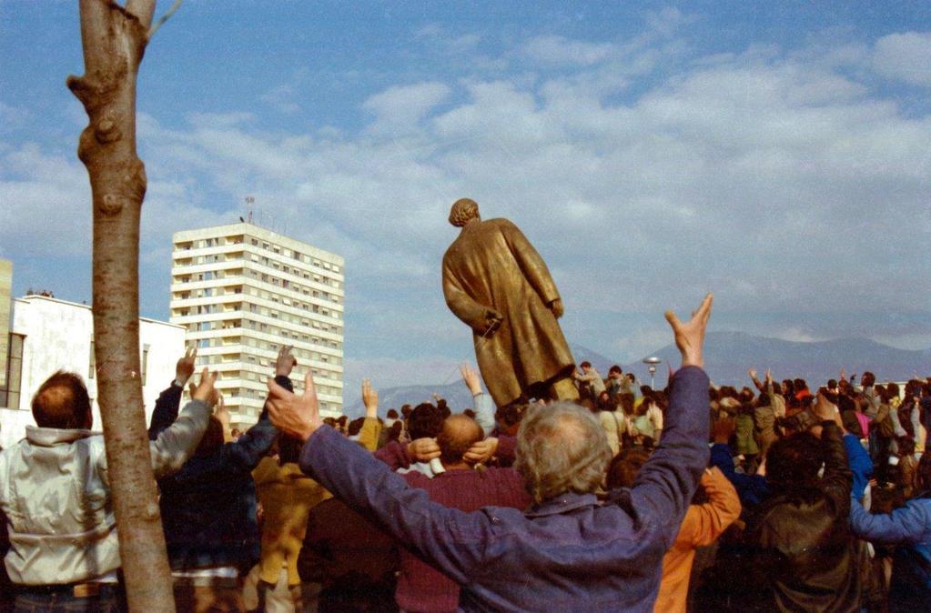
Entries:
<svg viewBox="0 0 931 613">
<path fill-rule="evenodd" d="M 89 301 L 69 73 L 76 3 L 0 0 L 0 257 L 17 294 Z M 931 347 L 929 93 L 926 2 L 187 0 L 140 72 L 142 313 L 168 317 L 170 234 L 250 194 L 347 261 L 347 403 L 444 382 L 471 357 L 439 286 L 469 196 L 618 361 L 708 290 L 715 329 Z"/>
</svg>

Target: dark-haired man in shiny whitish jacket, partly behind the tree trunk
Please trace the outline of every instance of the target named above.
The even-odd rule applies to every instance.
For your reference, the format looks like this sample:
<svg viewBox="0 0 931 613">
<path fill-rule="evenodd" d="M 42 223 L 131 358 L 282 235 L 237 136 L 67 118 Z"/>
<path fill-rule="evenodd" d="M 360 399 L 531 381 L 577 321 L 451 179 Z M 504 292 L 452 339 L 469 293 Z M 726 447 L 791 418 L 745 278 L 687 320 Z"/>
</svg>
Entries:
<svg viewBox="0 0 931 613">
<path fill-rule="evenodd" d="M 191 357 L 188 374 L 193 370 Z M 194 453 L 218 397 L 215 378 L 205 368 L 194 399 L 149 444 L 156 477 L 179 470 Z M 90 430 L 84 381 L 62 371 L 49 377 L 33 397 L 33 416 L 37 427 L 0 453 L 0 510 L 10 540 L 5 563 L 19 588 L 17 606 L 116 603 L 120 557 L 106 448 L 102 434 Z"/>
</svg>

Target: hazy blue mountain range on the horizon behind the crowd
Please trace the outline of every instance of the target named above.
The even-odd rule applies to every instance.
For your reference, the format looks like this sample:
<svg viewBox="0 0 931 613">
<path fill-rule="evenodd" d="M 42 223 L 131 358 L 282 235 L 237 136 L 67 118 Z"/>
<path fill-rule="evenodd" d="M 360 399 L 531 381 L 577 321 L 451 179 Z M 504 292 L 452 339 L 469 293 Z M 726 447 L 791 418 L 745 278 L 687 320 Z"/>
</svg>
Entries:
<svg viewBox="0 0 931 613">
<path fill-rule="evenodd" d="M 642 359 L 621 364 L 582 345 L 571 344 L 570 348 L 576 364 L 591 362 L 603 377 L 607 377 L 608 368 L 618 364 L 624 372 L 633 372 L 643 383 L 650 383 L 650 375 Z M 668 378 L 667 365 L 679 366 L 679 350 L 674 344 L 668 344 L 643 358 L 650 356 L 663 361 L 657 366 L 655 376 L 655 384 L 663 387 Z M 848 376 L 870 370 L 880 382 L 903 381 L 916 376 L 931 376 L 931 349 L 896 349 L 865 338 L 801 342 L 758 337 L 743 332 L 708 332 L 705 339 L 705 367 L 708 377 L 715 384 L 737 387 L 749 385 L 749 366 L 756 368 L 761 379 L 766 368 L 772 368 L 776 380 L 801 377 L 812 386 L 836 379 L 841 368 L 846 370 Z M 428 378 L 427 374 L 425 379 Z M 462 381 L 448 385 L 404 385 L 379 390 L 378 393 L 379 404 L 385 408 L 432 401 L 432 393 L 446 398 L 454 411 L 472 406 L 472 398 Z M 361 412 L 360 402 L 347 405 L 347 415 L 361 415 Z"/>
</svg>

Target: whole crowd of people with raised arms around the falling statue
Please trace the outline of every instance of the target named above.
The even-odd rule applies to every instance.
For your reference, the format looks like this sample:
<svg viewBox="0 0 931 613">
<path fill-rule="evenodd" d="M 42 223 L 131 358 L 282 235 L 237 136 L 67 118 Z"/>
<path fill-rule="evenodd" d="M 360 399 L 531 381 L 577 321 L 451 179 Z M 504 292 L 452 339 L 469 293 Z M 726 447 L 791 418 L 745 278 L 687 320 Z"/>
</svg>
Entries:
<svg viewBox="0 0 931 613">
<path fill-rule="evenodd" d="M 155 405 L 152 468 L 179 611 L 898 611 L 931 597 L 931 379 L 713 386 L 708 297 L 664 389 L 583 363 L 578 403 L 472 395 L 323 419 L 277 355 L 230 431 L 196 351 Z M 0 453 L 0 610 L 125 608 L 103 438 L 53 374 Z M 3 574 L 3 573 L 0 573 Z"/>
</svg>

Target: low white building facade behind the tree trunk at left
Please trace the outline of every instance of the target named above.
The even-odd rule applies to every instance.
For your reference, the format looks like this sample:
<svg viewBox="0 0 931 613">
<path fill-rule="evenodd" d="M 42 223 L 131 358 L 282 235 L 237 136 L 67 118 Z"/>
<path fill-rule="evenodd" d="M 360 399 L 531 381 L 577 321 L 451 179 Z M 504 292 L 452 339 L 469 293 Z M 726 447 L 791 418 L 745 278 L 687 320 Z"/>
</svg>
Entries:
<svg viewBox="0 0 931 613">
<path fill-rule="evenodd" d="M 0 446 L 20 440 L 27 425 L 34 425 L 33 393 L 57 370 L 80 375 L 88 386 L 94 429 L 101 430 L 97 405 L 93 314 L 86 304 L 47 296 L 12 300 L 13 324 L 9 335 L 10 386 L 0 398 Z M 142 400 L 146 423 L 155 399 L 175 377 L 175 364 L 184 353 L 184 328 L 141 317 L 139 320 Z"/>
</svg>

